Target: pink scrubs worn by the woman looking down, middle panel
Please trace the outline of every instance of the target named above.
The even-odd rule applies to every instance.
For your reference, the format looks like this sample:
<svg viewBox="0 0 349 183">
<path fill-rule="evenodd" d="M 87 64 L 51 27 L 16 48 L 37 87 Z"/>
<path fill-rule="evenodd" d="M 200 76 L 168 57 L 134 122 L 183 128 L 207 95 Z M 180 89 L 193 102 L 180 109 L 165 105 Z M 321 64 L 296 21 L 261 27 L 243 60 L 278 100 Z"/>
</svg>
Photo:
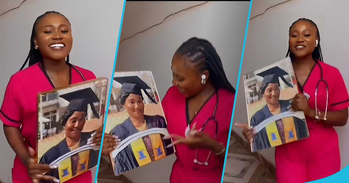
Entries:
<svg viewBox="0 0 349 183">
<path fill-rule="evenodd" d="M 196 128 L 200 129 L 202 125 L 212 117 L 218 93 L 218 106 L 215 117 L 218 121 L 218 133 L 216 141 L 227 146 L 231 114 L 234 103 L 234 93 L 225 89 L 219 89 L 213 94 L 194 116 L 190 128 L 196 122 Z M 170 134 L 184 136 L 187 127 L 186 120 L 186 98 L 180 94 L 176 86 L 172 86 L 166 93 L 162 107 L 167 121 L 167 128 Z M 208 121 L 203 132 L 214 138 L 216 123 L 214 120 Z M 200 182 L 200 183 L 218 183 L 221 182 L 224 160 L 211 153 L 208 159 L 208 166 L 194 163 L 196 149 L 190 149 L 187 145 L 175 145 L 177 160 L 172 167 L 170 177 L 171 183 Z M 209 150 L 198 149 L 197 159 L 199 162 L 205 162 Z"/>
</svg>

